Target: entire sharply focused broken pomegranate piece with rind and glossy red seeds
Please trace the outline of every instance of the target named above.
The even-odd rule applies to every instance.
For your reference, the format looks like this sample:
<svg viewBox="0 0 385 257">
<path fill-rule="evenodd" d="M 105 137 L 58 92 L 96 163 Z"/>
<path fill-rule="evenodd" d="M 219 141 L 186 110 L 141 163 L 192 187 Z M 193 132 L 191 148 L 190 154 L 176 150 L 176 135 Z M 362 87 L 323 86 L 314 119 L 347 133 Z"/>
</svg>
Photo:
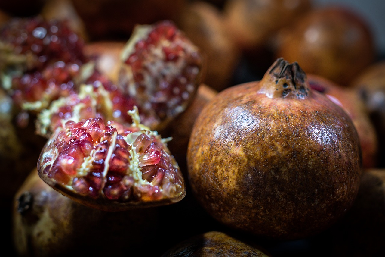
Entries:
<svg viewBox="0 0 385 257">
<path fill-rule="evenodd" d="M 60 193 L 107 211 L 181 200 L 186 189 L 166 139 L 139 121 L 102 118 L 58 125 L 38 162 L 39 176 Z"/>
</svg>

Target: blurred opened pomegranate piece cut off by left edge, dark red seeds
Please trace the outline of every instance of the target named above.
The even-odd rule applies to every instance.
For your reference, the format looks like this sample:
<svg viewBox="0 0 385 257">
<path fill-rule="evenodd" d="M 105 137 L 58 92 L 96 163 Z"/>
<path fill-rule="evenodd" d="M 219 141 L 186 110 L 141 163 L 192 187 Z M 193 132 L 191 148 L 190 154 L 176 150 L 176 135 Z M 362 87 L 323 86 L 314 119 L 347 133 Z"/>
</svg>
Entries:
<svg viewBox="0 0 385 257">
<path fill-rule="evenodd" d="M 66 22 L 13 18 L 0 34 L 0 86 L 21 109 L 39 112 L 72 90 L 86 58 L 84 42 Z"/>
</svg>

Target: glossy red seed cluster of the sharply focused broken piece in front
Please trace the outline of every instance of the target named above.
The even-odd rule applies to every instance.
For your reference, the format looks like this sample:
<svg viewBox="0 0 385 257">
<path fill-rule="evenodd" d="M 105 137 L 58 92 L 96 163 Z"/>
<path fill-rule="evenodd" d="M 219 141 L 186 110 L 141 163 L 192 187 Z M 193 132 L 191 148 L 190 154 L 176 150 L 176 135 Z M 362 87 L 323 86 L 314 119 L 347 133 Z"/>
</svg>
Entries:
<svg viewBox="0 0 385 257">
<path fill-rule="evenodd" d="M 129 143 L 127 137 L 134 140 Z M 49 152 L 55 154 L 42 160 L 43 173 L 80 195 L 119 202 L 157 200 L 164 196 L 163 188 L 181 183 L 162 142 L 137 127 L 90 118 L 65 123 L 53 138 Z"/>
</svg>

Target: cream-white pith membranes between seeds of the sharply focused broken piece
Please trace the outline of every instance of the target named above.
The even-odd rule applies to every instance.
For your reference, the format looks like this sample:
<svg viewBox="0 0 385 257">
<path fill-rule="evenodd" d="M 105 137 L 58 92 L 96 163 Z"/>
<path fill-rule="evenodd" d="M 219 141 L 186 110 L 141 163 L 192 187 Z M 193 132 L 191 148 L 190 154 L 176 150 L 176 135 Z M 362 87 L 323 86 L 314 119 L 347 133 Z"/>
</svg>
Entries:
<svg viewBox="0 0 385 257">
<path fill-rule="evenodd" d="M 132 188 L 139 188 L 138 192 L 141 193 L 140 192 L 141 187 L 146 186 L 146 185 L 152 187 L 154 185 L 152 184 L 152 182 L 149 182 L 146 179 L 142 178 L 142 171 L 141 171 L 142 167 L 140 166 L 139 154 L 136 152 L 136 147 L 134 147 L 134 145 L 133 145 L 135 140 L 140 135 L 146 134 L 152 141 L 161 144 L 161 146 L 162 146 L 161 155 L 167 157 L 167 159 L 168 159 L 168 158 L 170 158 L 170 154 L 167 152 L 168 150 L 167 150 L 166 144 L 171 139 L 170 138 L 162 139 L 157 134 L 156 131 L 152 131 L 147 126 L 141 124 L 137 107 L 134 107 L 134 110 L 130 111 L 129 115 L 132 117 L 132 120 L 133 120 L 133 123 L 131 124 L 132 130 L 134 130 L 134 131 L 137 130 L 137 131 L 133 132 L 133 133 L 129 133 L 128 135 L 126 135 L 124 137 L 124 140 L 131 147 L 131 150 L 129 150 L 131 160 L 129 160 L 129 165 L 127 166 L 125 175 L 132 178 L 132 180 L 126 180 L 127 183 L 131 183 L 130 181 L 133 181 Z M 76 116 L 76 115 L 74 115 L 74 116 Z M 55 140 L 55 138 L 57 138 L 57 136 L 60 134 L 60 132 L 63 131 L 64 124 L 65 124 L 65 121 L 62 122 L 62 126 L 58 127 L 55 130 L 55 132 L 53 133 L 53 135 L 50 137 L 50 139 L 48 140 L 48 142 L 46 144 L 47 147 L 45 147 L 45 149 L 47 149 L 47 150 L 50 149 L 50 150 L 48 152 L 42 153 L 42 158 L 41 158 L 42 161 L 40 162 L 40 165 L 42 166 L 41 170 L 44 170 L 48 166 L 50 166 L 50 168 L 51 168 L 53 166 L 55 160 L 59 156 L 58 148 L 55 145 L 54 140 Z M 87 124 L 88 123 L 85 122 L 83 124 L 83 127 L 86 127 Z M 67 135 L 70 137 L 71 136 L 70 130 L 67 129 L 66 131 L 67 131 L 66 132 Z M 118 134 L 116 132 L 112 135 L 112 139 L 110 140 L 111 143 L 110 143 L 109 148 L 107 150 L 107 156 L 106 156 L 105 161 L 104 161 L 104 169 L 102 172 L 102 178 L 103 178 L 104 183 L 100 189 L 99 196 L 100 196 L 100 194 L 103 193 L 104 185 L 107 181 L 107 174 L 109 171 L 109 162 L 110 162 L 110 159 L 111 159 L 112 154 L 114 153 L 114 150 L 116 147 L 115 140 L 116 140 L 117 135 Z M 99 140 L 99 142 L 102 142 L 102 141 L 103 141 L 103 139 Z M 78 178 L 85 176 L 90 171 L 90 167 L 92 167 L 92 163 L 95 160 L 95 155 L 96 155 L 96 150 L 94 148 L 93 150 L 91 150 L 89 156 L 84 157 L 82 164 L 80 165 L 80 167 L 76 171 L 77 172 L 76 176 Z M 47 161 L 44 163 L 45 160 L 50 160 L 50 161 Z M 179 167 L 178 167 L 177 163 L 171 162 L 171 164 L 172 164 L 174 170 L 176 170 L 176 172 L 179 172 Z M 145 167 L 145 166 L 143 166 L 143 167 Z M 182 183 L 183 182 L 181 181 L 181 179 L 179 179 L 179 181 L 178 181 L 174 177 L 174 174 L 172 172 L 166 172 L 166 174 L 162 180 L 161 186 L 159 186 L 159 189 L 157 189 L 155 192 L 155 193 L 158 193 L 158 196 L 156 199 L 152 199 L 151 196 L 148 196 L 146 198 L 146 192 L 145 191 L 142 192 L 143 195 L 139 195 L 138 197 L 139 198 L 143 197 L 144 201 L 146 201 L 146 199 L 161 200 L 164 198 L 175 198 L 175 197 L 178 197 L 178 196 L 183 194 Z M 69 191 L 75 191 L 74 188 L 72 187 L 72 180 L 70 180 L 68 184 L 62 184 L 61 186 L 67 188 Z"/>
</svg>

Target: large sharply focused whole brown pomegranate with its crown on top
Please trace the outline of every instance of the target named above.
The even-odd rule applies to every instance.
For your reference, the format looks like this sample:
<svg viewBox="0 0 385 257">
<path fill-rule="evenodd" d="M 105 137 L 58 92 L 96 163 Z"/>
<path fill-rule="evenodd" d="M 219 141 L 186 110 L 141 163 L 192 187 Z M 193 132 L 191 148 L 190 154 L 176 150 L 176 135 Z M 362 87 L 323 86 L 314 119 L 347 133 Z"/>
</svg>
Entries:
<svg viewBox="0 0 385 257">
<path fill-rule="evenodd" d="M 350 117 L 282 58 L 261 81 L 228 88 L 203 108 L 187 166 L 192 193 L 216 220 L 286 239 L 340 218 L 362 173 Z"/>
</svg>

